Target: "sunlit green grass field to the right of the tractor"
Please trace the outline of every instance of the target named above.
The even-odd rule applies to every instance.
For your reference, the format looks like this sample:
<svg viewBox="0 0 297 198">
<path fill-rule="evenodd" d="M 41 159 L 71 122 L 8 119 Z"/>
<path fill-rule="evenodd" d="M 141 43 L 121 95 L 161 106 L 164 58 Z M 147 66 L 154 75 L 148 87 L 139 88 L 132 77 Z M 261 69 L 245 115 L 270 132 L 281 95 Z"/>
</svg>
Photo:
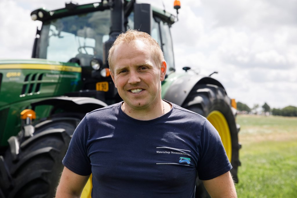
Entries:
<svg viewBox="0 0 297 198">
<path fill-rule="evenodd" d="M 238 115 L 238 197 L 297 197 L 297 118 Z"/>
</svg>

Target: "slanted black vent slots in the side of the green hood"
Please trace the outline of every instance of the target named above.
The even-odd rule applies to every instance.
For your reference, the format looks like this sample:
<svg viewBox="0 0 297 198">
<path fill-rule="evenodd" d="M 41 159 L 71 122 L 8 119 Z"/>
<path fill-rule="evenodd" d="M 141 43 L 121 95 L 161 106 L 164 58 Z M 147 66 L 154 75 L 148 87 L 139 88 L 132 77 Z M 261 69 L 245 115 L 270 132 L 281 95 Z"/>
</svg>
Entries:
<svg viewBox="0 0 297 198">
<path fill-rule="evenodd" d="M 43 77 L 43 73 L 28 74 L 25 77 L 21 95 L 37 93 L 40 91 L 40 83 Z"/>
</svg>

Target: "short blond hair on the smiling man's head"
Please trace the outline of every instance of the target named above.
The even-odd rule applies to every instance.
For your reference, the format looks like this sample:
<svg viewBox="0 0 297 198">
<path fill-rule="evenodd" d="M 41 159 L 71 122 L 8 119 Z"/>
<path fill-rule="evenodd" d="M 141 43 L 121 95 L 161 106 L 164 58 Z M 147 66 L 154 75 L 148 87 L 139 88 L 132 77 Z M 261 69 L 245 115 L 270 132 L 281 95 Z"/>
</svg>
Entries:
<svg viewBox="0 0 297 198">
<path fill-rule="evenodd" d="M 136 40 L 141 40 L 141 41 L 146 42 L 150 45 L 151 56 L 153 56 L 153 59 L 154 59 L 155 63 L 157 64 L 157 66 L 161 67 L 162 62 L 165 61 L 165 59 L 164 59 L 162 49 L 159 46 L 158 42 L 153 37 L 151 37 L 151 35 L 149 35 L 146 32 L 140 32 L 138 30 L 129 29 L 125 33 L 121 33 L 116 37 L 115 42 L 113 43 L 113 45 L 110 47 L 110 49 L 108 51 L 108 64 L 109 64 L 110 72 L 112 74 L 113 74 L 112 56 L 113 56 L 114 51 L 116 50 L 116 47 L 118 47 L 124 43 L 132 44 Z"/>
</svg>

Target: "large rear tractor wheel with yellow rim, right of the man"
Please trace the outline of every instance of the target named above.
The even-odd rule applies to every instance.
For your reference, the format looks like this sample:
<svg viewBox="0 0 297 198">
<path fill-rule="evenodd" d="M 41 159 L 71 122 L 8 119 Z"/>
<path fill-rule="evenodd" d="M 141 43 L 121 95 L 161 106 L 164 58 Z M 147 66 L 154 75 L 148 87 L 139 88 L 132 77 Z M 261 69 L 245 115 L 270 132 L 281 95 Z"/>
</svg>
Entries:
<svg viewBox="0 0 297 198">
<path fill-rule="evenodd" d="M 182 106 L 206 117 L 218 130 L 233 167 L 230 171 L 233 180 L 238 182 L 237 168 L 240 165 L 238 159 L 240 148 L 238 144 L 239 125 L 236 125 L 236 112 L 234 109 L 232 110 L 231 99 L 227 96 L 225 89 L 217 85 L 198 84 L 192 89 Z M 210 197 L 202 181 L 198 178 L 196 181 L 196 197 Z"/>
</svg>

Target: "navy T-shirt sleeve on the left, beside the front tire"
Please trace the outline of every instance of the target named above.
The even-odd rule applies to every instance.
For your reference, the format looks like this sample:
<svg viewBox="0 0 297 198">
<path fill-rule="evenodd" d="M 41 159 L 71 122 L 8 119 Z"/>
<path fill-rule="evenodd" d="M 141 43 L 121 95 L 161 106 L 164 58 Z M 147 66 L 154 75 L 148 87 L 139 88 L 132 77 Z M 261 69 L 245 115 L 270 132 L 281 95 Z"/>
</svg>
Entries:
<svg viewBox="0 0 297 198">
<path fill-rule="evenodd" d="M 75 129 L 62 161 L 69 170 L 83 176 L 91 174 L 91 162 L 87 153 L 88 137 L 88 125 L 86 117 L 84 117 Z"/>
</svg>

